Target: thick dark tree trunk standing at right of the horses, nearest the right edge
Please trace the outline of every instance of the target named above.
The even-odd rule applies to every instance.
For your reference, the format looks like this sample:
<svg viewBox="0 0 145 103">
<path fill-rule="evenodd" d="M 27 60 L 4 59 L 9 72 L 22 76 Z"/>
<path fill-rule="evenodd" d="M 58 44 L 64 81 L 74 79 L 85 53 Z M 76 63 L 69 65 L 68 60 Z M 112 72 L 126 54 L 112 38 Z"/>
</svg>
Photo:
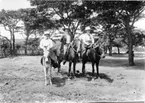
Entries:
<svg viewBox="0 0 145 103">
<path fill-rule="evenodd" d="M 133 54 L 133 39 L 132 39 L 132 29 L 129 26 L 129 20 L 126 22 L 126 33 L 128 34 L 128 61 L 129 65 L 133 66 L 134 63 L 134 54 Z"/>
</svg>

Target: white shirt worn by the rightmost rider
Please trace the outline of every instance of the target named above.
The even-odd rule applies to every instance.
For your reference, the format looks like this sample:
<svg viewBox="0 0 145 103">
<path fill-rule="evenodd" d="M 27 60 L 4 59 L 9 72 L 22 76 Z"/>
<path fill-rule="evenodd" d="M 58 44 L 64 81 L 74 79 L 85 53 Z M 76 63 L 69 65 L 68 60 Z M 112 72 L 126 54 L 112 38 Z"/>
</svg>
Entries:
<svg viewBox="0 0 145 103">
<path fill-rule="evenodd" d="M 91 34 L 82 34 L 79 36 L 79 39 L 86 45 L 94 43 L 94 38 Z"/>
</svg>

